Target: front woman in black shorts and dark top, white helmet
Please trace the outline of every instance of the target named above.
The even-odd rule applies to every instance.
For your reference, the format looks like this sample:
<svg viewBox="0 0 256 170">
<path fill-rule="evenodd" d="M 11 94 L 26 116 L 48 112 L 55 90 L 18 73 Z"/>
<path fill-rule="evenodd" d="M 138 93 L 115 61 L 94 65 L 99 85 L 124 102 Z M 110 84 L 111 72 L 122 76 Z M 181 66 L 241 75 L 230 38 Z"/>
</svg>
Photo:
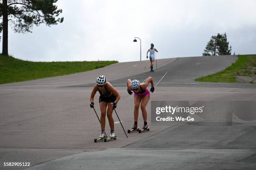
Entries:
<svg viewBox="0 0 256 170">
<path fill-rule="evenodd" d="M 120 100 L 120 94 L 118 91 L 110 84 L 110 82 L 107 82 L 107 78 L 104 75 L 100 75 L 96 79 L 96 84 L 93 87 L 91 97 L 90 97 L 90 107 L 94 107 L 94 96 L 96 92 L 100 93 L 99 103 L 100 103 L 100 125 L 101 125 L 101 134 L 100 139 L 103 139 L 106 137 L 105 133 L 105 117 L 106 117 L 106 111 L 108 116 L 108 122 L 110 125 L 110 138 L 115 138 L 115 132 L 114 132 L 114 120 L 112 117 L 113 110 L 116 108 L 118 101 Z M 108 110 L 107 110 L 108 106 Z"/>
</svg>

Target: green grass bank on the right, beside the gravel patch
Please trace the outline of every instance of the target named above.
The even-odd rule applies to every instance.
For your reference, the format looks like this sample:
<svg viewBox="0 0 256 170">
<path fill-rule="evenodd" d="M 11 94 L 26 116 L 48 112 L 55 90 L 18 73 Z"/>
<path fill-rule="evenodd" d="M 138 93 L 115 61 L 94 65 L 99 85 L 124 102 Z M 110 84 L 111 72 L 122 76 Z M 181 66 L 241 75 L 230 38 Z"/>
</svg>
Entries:
<svg viewBox="0 0 256 170">
<path fill-rule="evenodd" d="M 237 75 L 256 75 L 256 55 L 238 55 L 238 60 L 230 67 L 205 77 L 196 78 L 200 82 L 238 82 Z"/>
</svg>

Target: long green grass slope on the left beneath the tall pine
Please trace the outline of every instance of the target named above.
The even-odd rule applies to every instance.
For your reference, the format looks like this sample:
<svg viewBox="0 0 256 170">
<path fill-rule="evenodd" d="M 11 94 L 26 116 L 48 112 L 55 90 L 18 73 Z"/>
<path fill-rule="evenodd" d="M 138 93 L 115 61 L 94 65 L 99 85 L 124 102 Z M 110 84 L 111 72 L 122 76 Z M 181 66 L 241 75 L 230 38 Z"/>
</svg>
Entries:
<svg viewBox="0 0 256 170">
<path fill-rule="evenodd" d="M 31 62 L 0 54 L 0 84 L 94 70 L 118 61 Z"/>
</svg>

